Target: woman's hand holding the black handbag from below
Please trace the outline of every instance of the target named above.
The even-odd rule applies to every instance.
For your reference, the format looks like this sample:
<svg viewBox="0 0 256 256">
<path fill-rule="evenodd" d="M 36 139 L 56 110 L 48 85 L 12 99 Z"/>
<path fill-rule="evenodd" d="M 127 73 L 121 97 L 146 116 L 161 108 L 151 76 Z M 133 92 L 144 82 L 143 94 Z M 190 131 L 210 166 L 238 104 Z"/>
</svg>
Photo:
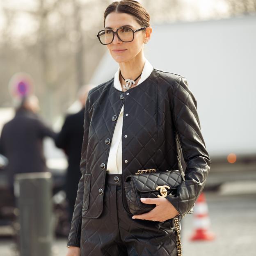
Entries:
<svg viewBox="0 0 256 256">
<path fill-rule="evenodd" d="M 133 215 L 133 219 L 147 219 L 153 221 L 163 222 L 167 219 L 172 219 L 179 215 L 179 212 L 176 208 L 171 204 L 168 199 L 164 197 L 157 198 L 141 198 L 143 203 L 153 204 L 156 206 L 151 211 L 139 215 Z"/>
</svg>

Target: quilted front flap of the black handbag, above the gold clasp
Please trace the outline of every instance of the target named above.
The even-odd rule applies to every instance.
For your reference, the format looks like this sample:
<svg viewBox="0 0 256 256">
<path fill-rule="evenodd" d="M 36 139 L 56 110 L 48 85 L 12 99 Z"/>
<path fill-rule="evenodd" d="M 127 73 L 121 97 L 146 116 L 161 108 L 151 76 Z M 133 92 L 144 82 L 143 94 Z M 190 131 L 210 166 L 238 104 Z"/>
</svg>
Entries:
<svg viewBox="0 0 256 256">
<path fill-rule="evenodd" d="M 130 176 L 136 190 L 139 192 L 155 191 L 157 186 L 168 185 L 170 189 L 177 189 L 183 181 L 179 170 L 158 171 L 144 174 L 133 174 Z"/>
</svg>

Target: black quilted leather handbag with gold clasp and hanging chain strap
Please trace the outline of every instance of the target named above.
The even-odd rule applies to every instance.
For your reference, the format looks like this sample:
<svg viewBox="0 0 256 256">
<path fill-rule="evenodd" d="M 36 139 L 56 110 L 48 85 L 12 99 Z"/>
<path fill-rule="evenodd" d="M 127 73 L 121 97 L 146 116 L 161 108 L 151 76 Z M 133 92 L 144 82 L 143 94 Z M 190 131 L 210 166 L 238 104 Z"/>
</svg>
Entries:
<svg viewBox="0 0 256 256">
<path fill-rule="evenodd" d="M 155 169 L 138 170 L 126 177 L 124 188 L 130 213 L 139 215 L 155 208 L 155 204 L 142 203 L 141 197 L 156 198 L 176 195 L 178 185 L 183 181 L 179 170 L 158 171 Z M 177 232 L 177 251 L 181 256 L 181 237 L 178 217 L 174 218 Z"/>
</svg>

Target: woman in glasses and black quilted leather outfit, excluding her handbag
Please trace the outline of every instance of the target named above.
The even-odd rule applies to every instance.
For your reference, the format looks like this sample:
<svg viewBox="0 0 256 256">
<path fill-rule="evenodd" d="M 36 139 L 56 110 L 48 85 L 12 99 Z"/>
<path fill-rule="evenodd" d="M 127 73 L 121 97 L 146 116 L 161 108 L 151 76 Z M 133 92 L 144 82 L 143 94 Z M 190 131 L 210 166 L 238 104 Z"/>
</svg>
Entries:
<svg viewBox="0 0 256 256">
<path fill-rule="evenodd" d="M 145 59 L 152 28 L 141 4 L 113 2 L 104 27 L 98 39 L 119 69 L 88 94 L 67 256 L 176 256 L 173 218 L 181 221 L 191 212 L 210 169 L 197 101 L 183 76 L 154 69 Z M 185 180 L 176 197 L 146 198 L 143 202 L 155 208 L 133 216 L 123 182 L 151 168 L 179 169 Z"/>
</svg>

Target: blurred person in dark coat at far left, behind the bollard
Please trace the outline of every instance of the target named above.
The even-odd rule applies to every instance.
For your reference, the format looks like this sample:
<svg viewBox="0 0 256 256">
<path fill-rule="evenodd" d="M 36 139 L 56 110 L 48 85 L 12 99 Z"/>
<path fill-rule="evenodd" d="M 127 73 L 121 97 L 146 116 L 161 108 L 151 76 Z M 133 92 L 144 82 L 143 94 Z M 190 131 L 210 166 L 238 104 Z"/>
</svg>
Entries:
<svg viewBox="0 0 256 256">
<path fill-rule="evenodd" d="M 55 133 L 39 118 L 39 109 L 35 95 L 23 96 L 14 118 L 2 128 L 0 154 L 9 160 L 6 170 L 12 192 L 14 174 L 47 171 L 43 138 L 54 138 Z"/>
</svg>

